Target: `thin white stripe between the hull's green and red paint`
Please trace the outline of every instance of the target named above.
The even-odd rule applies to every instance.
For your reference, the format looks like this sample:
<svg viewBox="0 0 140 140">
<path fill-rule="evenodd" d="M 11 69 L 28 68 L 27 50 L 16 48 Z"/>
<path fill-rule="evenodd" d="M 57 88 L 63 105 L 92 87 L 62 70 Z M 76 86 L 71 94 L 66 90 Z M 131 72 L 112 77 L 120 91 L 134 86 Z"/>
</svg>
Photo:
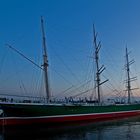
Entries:
<svg viewBox="0 0 140 140">
<path fill-rule="evenodd" d="M 55 116 L 37 116 L 37 117 L 3 117 L 1 119 L 47 119 L 47 118 L 61 118 L 61 117 L 78 117 L 78 116 L 95 116 L 95 115 L 106 115 L 106 114 L 120 114 L 120 113 L 133 113 L 140 112 L 140 110 L 133 111 L 117 111 L 117 112 L 104 112 L 104 113 L 89 113 L 89 114 L 71 114 L 71 115 L 55 115 Z"/>
</svg>

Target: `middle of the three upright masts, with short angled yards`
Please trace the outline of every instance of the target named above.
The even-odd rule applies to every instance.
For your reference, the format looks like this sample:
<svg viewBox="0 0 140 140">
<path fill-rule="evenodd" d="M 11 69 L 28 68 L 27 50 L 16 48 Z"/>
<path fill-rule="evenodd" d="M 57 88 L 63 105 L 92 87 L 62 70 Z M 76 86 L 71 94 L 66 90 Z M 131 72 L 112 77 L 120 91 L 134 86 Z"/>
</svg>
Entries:
<svg viewBox="0 0 140 140">
<path fill-rule="evenodd" d="M 99 51 L 100 51 L 100 48 L 101 48 L 101 42 L 99 41 L 97 43 L 97 33 L 95 31 L 94 25 L 93 25 L 93 35 L 94 35 L 94 42 L 93 43 L 94 43 L 94 46 L 95 46 L 95 63 L 96 63 L 96 88 L 97 88 L 97 95 L 98 95 L 98 104 L 100 104 L 101 103 L 100 86 L 102 84 L 104 84 L 105 82 L 107 82 L 108 79 L 101 82 L 100 75 L 105 70 L 105 67 L 104 67 L 104 65 L 99 67 Z"/>
</svg>

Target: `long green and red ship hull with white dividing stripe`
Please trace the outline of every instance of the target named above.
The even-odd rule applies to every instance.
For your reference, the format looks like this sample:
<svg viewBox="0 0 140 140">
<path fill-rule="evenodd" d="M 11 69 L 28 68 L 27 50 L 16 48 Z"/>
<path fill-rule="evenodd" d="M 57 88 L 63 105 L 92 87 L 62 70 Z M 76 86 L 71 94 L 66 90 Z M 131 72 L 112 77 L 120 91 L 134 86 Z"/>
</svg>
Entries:
<svg viewBox="0 0 140 140">
<path fill-rule="evenodd" d="M 57 125 L 71 122 L 104 121 L 140 115 L 140 104 L 77 106 L 1 104 L 0 125 Z"/>
</svg>

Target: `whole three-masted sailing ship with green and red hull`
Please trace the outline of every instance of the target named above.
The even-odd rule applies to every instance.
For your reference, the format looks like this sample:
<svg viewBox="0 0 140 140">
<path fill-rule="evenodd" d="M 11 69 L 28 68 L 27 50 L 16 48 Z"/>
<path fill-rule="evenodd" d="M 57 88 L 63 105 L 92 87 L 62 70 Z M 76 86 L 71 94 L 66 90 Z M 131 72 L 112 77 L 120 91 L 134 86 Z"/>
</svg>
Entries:
<svg viewBox="0 0 140 140">
<path fill-rule="evenodd" d="M 129 59 L 126 48 L 126 70 L 127 70 L 127 92 L 128 102 L 117 104 L 102 104 L 100 97 L 100 86 L 108 80 L 101 82 L 101 73 L 105 70 L 104 66 L 99 66 L 99 51 L 101 43 L 97 43 L 97 33 L 94 28 L 94 46 L 96 62 L 96 88 L 97 100 L 68 100 L 67 102 L 57 103 L 51 101 L 51 94 L 48 84 L 48 57 L 46 50 L 46 39 L 44 31 L 44 21 L 41 17 L 42 38 L 44 47 L 43 71 L 46 87 L 45 102 L 7 102 L 6 99 L 0 101 L 0 125 L 1 126 L 22 126 L 22 125 L 57 125 L 63 123 L 81 122 L 81 121 L 103 121 L 116 118 L 130 117 L 140 115 L 140 104 L 131 102 L 131 78 L 129 74 Z M 12 46 L 11 49 L 18 52 Z M 22 54 L 20 54 L 22 55 Z M 24 55 L 22 55 L 25 57 Z M 26 57 L 25 57 L 26 58 Z M 27 59 L 27 58 L 26 58 Z M 31 60 L 29 60 L 31 61 Z M 32 62 L 32 61 L 31 61 Z M 32 62 L 33 63 L 33 62 Z M 39 66 L 38 66 L 39 67 Z M 42 69 L 42 67 L 41 67 Z"/>
</svg>

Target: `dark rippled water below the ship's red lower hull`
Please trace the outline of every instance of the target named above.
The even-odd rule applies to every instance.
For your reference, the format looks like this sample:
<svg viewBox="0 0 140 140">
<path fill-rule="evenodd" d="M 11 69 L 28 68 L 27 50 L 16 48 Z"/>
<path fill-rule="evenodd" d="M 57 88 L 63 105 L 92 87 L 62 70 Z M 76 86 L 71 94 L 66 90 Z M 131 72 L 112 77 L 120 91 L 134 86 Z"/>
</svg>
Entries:
<svg viewBox="0 0 140 140">
<path fill-rule="evenodd" d="M 139 140 L 140 117 L 61 126 L 4 128 L 0 140 Z"/>
</svg>

